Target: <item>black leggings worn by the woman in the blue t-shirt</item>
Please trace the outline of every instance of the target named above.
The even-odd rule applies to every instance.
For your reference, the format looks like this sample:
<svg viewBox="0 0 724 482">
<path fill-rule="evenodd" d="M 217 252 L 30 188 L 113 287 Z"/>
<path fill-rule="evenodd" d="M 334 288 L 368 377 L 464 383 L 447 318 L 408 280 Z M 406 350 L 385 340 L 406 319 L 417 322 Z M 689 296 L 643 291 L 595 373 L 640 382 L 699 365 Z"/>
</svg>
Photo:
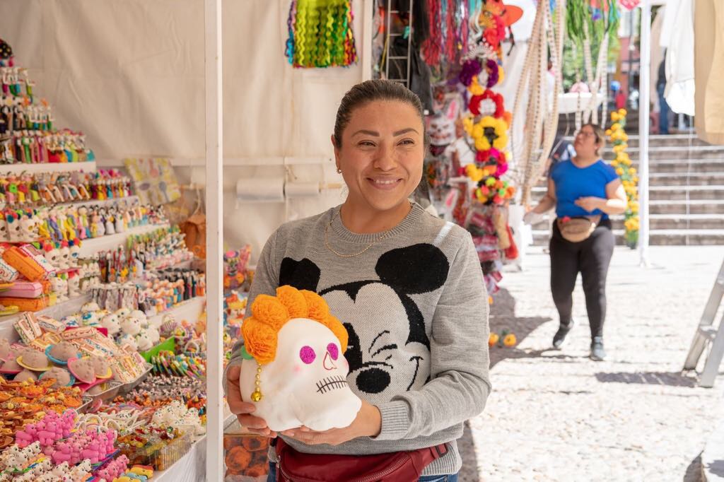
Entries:
<svg viewBox="0 0 724 482">
<path fill-rule="evenodd" d="M 550 238 L 550 291 L 560 316 L 560 324 L 571 323 L 573 288 L 578 271 L 583 279 L 591 337 L 603 336 L 606 319 L 606 275 L 613 255 L 615 238 L 611 221 L 602 220 L 588 239 L 570 242 L 563 239 L 558 224 L 553 223 Z"/>
</svg>

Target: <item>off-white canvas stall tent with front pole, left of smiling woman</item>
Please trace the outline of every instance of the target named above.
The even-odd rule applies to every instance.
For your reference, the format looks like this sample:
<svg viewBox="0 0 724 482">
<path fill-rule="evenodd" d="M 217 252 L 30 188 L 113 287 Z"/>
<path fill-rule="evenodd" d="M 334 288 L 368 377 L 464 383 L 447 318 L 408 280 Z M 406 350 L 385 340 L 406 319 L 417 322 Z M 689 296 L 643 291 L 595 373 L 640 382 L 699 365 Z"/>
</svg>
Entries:
<svg viewBox="0 0 724 482">
<path fill-rule="evenodd" d="M 292 69 L 284 56 L 289 6 L 0 0 L 0 37 L 28 67 L 35 94 L 54 107 L 56 126 L 85 132 L 99 166 L 167 157 L 182 182 L 206 185 L 209 320 L 222 318 L 223 243 L 249 242 L 256 256 L 289 214 L 281 204 L 236 209 L 235 180 L 284 176 L 286 161 L 300 158 L 296 178 L 341 182 L 329 140 L 334 113 L 371 74 L 371 0 L 353 0 L 360 61 L 348 68 Z M 322 195 L 293 215 L 341 200 Z M 223 478 L 222 329 L 207 324 L 206 468 L 187 468 L 174 481 Z"/>
</svg>

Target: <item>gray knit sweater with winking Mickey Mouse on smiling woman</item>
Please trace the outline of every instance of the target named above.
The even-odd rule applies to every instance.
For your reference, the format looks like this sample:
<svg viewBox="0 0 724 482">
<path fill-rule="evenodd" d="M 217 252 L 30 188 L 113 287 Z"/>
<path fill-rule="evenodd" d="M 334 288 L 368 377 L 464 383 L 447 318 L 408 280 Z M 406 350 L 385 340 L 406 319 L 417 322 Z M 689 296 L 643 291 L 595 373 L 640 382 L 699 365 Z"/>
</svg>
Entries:
<svg viewBox="0 0 724 482">
<path fill-rule="evenodd" d="M 325 245 L 330 220 L 337 253 L 358 253 L 379 237 L 350 232 L 339 207 L 282 225 L 261 252 L 249 305 L 284 284 L 324 297 L 349 332 L 350 389 L 379 407 L 382 431 L 334 447 L 285 441 L 300 452 L 336 454 L 450 442 L 424 475 L 455 473 L 463 421 L 481 413 L 491 389 L 487 293 L 471 236 L 415 204 L 384 240 L 341 258 Z M 230 364 L 240 363 L 239 349 Z"/>
</svg>

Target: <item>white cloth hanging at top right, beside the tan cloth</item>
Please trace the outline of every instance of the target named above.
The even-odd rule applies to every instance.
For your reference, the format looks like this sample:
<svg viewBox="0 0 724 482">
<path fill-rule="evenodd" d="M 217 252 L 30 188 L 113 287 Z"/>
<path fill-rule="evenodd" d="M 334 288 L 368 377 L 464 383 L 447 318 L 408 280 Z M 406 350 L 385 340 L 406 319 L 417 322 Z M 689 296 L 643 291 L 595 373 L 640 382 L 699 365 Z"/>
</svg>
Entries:
<svg viewBox="0 0 724 482">
<path fill-rule="evenodd" d="M 676 7 L 676 8 L 672 8 Z M 670 24 L 674 15 L 675 23 Z M 668 41 L 665 35 L 668 36 Z M 666 90 L 664 96 L 672 111 L 694 115 L 694 2 L 678 0 L 668 3 L 661 34 L 668 43 L 666 51 Z"/>
</svg>

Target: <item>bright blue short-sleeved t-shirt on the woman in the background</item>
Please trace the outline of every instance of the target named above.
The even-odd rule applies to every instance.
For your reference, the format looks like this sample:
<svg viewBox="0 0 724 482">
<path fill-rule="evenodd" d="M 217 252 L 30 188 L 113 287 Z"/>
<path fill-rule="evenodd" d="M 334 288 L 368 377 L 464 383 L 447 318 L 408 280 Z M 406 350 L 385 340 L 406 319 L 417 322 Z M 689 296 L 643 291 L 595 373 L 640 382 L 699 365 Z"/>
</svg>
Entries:
<svg viewBox="0 0 724 482">
<path fill-rule="evenodd" d="M 589 213 L 584 208 L 576 206 L 575 202 L 576 199 L 587 196 L 607 198 L 606 185 L 618 179 L 613 167 L 601 159 L 584 168 L 576 167 L 572 161 L 563 161 L 553 166 L 550 177 L 555 182 L 556 216 L 562 218 L 602 214 L 602 219 L 608 219 L 608 215 L 600 209 Z"/>
</svg>

